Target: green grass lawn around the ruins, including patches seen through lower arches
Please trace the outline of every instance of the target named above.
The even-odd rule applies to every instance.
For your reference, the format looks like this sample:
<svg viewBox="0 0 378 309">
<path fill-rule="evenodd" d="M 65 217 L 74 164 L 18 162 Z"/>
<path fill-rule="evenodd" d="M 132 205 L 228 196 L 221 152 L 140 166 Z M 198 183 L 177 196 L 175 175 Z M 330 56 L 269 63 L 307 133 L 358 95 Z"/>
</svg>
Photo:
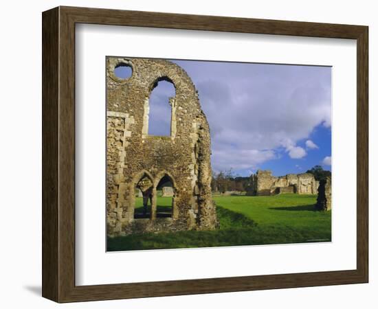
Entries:
<svg viewBox="0 0 378 309">
<path fill-rule="evenodd" d="M 220 229 L 108 238 L 108 251 L 331 241 L 331 211 L 314 211 L 315 195 L 213 196 Z M 142 198 L 135 210 L 142 209 Z M 157 198 L 158 209 L 172 198 Z"/>
</svg>

